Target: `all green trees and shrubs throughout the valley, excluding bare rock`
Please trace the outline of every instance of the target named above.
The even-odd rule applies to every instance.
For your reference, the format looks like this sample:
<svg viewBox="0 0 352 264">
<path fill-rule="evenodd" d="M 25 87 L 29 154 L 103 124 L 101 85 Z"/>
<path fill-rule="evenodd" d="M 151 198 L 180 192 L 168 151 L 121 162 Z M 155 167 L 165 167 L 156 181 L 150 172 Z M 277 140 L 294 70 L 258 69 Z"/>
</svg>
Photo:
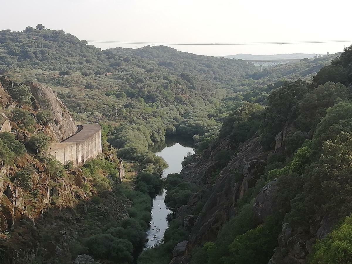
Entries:
<svg viewBox="0 0 352 264">
<path fill-rule="evenodd" d="M 351 54 L 350 47 L 331 65 L 335 56 L 302 59 L 259 72 L 241 60 L 198 56 L 164 46 L 101 51 L 62 30 L 42 25 L 37 29 L 27 27 L 23 32 L 0 31 L 0 74 L 54 87 L 76 120 L 102 124 L 105 150 L 108 140 L 117 148 L 118 156 L 137 162 L 133 186 L 118 184 L 116 164 L 111 161 L 96 159 L 83 166 L 82 173 L 89 183 L 82 190 L 90 200 L 83 205 L 87 209 L 77 211 L 77 219 L 86 219 L 79 226 L 84 232 L 70 242 L 72 247 L 64 261 L 82 253 L 106 263 L 136 261 L 150 221 L 149 194 L 161 188 L 159 175 L 167 166 L 150 147 L 165 136 L 193 137 L 197 154 L 187 157 L 183 165 L 204 155 L 203 150 L 212 142 L 231 143 L 230 150 L 214 156 L 217 167 L 208 186 L 185 182 L 179 174 L 169 175 L 165 201 L 177 210 L 193 193 L 206 192 L 214 184 L 241 143 L 259 136 L 263 148 L 272 150 L 275 136 L 283 127 L 293 128 L 287 130 L 284 151 L 268 159 L 264 174 L 237 202 L 237 215 L 222 227 L 215 241 L 191 252 L 191 263 L 267 263 L 284 222 L 309 233 L 317 224 L 315 219 L 322 215 L 345 220 L 314 246 L 312 263 L 347 261 Z M 15 157 L 31 153 L 48 165 L 54 179 L 73 181 L 73 176 L 65 172 L 70 170 L 69 164 L 64 168 L 41 156 L 49 139 L 35 127 L 49 124 L 52 117 L 45 110 L 36 113 L 35 118 L 31 115 L 26 109 L 31 96 L 25 85 L 11 91 L 11 96 L 23 106 L 8 113 L 17 124 L 15 128 L 36 133 L 25 144 L 1 133 L 1 159 L 8 164 Z M 16 179 L 20 188 L 34 197 L 37 194 L 31 190 L 31 173 L 32 168 L 23 167 L 10 180 Z M 274 179 L 279 209 L 257 225 L 253 198 Z M 55 187 L 59 183 L 52 184 Z M 51 202 L 57 205 L 59 197 Z M 116 204 L 127 208 L 126 217 L 107 217 L 104 210 Z M 200 214 L 203 205 L 203 201 L 198 202 L 192 213 Z M 171 251 L 187 239 L 189 232 L 182 220 L 173 219 L 163 244 L 143 252 L 138 263 L 169 263 Z M 50 241 L 45 236 L 41 239 L 44 244 Z M 341 249 L 339 243 L 346 248 Z M 345 259 L 339 259 L 339 250 L 347 251 Z M 45 252 L 40 253 L 37 263 L 44 261 Z"/>
</svg>

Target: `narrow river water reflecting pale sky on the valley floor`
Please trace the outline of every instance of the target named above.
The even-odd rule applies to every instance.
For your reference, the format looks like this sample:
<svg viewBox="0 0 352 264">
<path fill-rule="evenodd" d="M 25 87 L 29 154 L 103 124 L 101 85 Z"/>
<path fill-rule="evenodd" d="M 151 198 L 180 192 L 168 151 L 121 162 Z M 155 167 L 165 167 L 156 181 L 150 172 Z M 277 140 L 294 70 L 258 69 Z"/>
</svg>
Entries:
<svg viewBox="0 0 352 264">
<path fill-rule="evenodd" d="M 169 168 L 164 170 L 162 177 L 167 177 L 170 173 L 180 172 L 182 169 L 181 162 L 188 152 L 194 153 L 192 147 L 187 147 L 178 142 L 166 143 L 162 150 L 155 151 L 156 155 L 161 156 L 169 164 Z M 152 219 L 150 228 L 147 232 L 147 243 L 145 247 L 153 247 L 161 242 L 168 222 L 166 216 L 172 211 L 169 210 L 164 202 L 166 190 L 161 190 L 153 199 Z"/>
</svg>

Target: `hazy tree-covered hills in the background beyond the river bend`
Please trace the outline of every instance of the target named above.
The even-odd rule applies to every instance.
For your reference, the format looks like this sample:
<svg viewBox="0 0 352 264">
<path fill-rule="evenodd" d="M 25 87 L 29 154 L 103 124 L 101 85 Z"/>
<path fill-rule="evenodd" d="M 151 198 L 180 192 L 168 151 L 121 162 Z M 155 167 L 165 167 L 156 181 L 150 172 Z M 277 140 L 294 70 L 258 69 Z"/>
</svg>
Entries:
<svg viewBox="0 0 352 264">
<path fill-rule="evenodd" d="M 43 25 L 0 31 L 0 73 L 50 85 L 77 121 L 109 124 L 119 155 L 140 162 L 154 157 L 148 147 L 167 135 L 206 145 L 243 103 L 265 105 L 285 80 L 311 80 L 333 57 L 259 72 L 242 60 L 165 46 L 102 51 Z"/>
</svg>

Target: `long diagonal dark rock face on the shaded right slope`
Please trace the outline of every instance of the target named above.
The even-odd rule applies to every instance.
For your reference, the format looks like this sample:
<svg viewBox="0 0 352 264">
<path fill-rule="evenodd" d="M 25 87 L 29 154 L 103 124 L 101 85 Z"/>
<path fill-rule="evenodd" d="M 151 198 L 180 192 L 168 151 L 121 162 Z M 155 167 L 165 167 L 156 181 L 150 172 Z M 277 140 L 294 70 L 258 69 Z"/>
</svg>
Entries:
<svg viewBox="0 0 352 264">
<path fill-rule="evenodd" d="M 219 147 L 223 149 L 223 146 Z M 241 197 L 241 190 L 244 192 L 249 184 L 255 184 L 257 176 L 265 168 L 268 154 L 269 152 L 263 151 L 258 138 L 249 139 L 239 147 L 237 154 L 216 179 L 210 196 L 189 235 L 186 253 L 196 245 L 213 241 L 222 225 L 237 214 L 236 204 Z M 199 164 L 195 168 L 209 169 L 206 165 Z M 188 173 L 189 178 L 196 177 L 192 175 L 202 174 L 201 171 Z"/>
</svg>

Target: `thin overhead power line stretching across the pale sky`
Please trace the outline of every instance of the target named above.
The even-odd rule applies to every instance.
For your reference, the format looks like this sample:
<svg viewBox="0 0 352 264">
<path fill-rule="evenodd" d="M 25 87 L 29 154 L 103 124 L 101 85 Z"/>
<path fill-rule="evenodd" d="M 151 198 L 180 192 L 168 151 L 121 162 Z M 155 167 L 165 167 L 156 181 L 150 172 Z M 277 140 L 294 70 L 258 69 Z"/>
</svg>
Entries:
<svg viewBox="0 0 352 264">
<path fill-rule="evenodd" d="M 284 41 L 284 42 L 134 42 L 134 41 L 105 41 L 87 40 L 91 43 L 139 44 L 139 45 L 284 45 L 284 44 L 310 44 L 310 43 L 337 43 L 352 42 L 352 40 L 317 40 L 317 41 Z"/>
</svg>

